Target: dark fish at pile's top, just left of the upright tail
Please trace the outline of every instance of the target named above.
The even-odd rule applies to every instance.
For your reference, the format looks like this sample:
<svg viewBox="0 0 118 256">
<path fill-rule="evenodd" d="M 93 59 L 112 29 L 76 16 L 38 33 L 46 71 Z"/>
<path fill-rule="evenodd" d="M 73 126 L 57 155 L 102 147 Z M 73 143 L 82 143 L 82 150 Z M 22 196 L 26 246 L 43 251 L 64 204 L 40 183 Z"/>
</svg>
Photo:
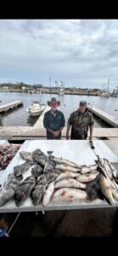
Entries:
<svg viewBox="0 0 118 256">
<path fill-rule="evenodd" d="M 32 158 L 33 160 L 37 161 L 37 163 L 39 163 L 41 166 L 45 166 L 48 156 L 42 153 L 41 149 L 36 149 L 32 152 Z"/>
</svg>

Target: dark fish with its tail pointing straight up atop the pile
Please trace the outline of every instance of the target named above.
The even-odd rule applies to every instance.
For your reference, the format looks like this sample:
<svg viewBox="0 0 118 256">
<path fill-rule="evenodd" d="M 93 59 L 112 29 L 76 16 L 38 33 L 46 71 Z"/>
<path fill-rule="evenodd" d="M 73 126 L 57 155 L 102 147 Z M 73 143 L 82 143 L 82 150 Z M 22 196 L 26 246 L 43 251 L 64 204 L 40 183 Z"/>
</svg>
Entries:
<svg viewBox="0 0 118 256">
<path fill-rule="evenodd" d="M 53 151 L 48 151 L 48 158 L 46 160 L 46 163 L 45 163 L 45 166 L 44 166 L 44 169 L 43 169 L 43 172 L 54 172 L 55 170 L 55 164 L 53 163 L 53 160 L 52 160 L 52 154 Z"/>
</svg>

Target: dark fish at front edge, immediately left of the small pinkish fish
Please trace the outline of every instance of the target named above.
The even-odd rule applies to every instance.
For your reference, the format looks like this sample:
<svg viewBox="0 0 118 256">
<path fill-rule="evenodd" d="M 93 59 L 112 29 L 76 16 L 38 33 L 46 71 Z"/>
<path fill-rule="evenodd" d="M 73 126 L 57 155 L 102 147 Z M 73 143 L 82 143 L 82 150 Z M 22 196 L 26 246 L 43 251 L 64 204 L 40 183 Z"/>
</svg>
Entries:
<svg viewBox="0 0 118 256">
<path fill-rule="evenodd" d="M 45 194 L 45 191 L 46 191 L 46 185 L 38 184 L 38 182 L 36 183 L 35 187 L 32 189 L 31 199 L 35 207 L 37 207 L 39 203 L 42 201 L 42 196 Z"/>
</svg>

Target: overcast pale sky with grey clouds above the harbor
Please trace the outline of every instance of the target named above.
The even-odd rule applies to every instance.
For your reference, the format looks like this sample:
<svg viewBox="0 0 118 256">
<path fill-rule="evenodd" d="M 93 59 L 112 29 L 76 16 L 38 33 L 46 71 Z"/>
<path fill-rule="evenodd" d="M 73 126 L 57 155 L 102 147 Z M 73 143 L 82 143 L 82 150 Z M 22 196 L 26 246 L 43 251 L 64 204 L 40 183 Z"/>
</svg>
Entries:
<svg viewBox="0 0 118 256">
<path fill-rule="evenodd" d="M 0 20 L 0 82 L 118 85 L 118 20 Z"/>
</svg>

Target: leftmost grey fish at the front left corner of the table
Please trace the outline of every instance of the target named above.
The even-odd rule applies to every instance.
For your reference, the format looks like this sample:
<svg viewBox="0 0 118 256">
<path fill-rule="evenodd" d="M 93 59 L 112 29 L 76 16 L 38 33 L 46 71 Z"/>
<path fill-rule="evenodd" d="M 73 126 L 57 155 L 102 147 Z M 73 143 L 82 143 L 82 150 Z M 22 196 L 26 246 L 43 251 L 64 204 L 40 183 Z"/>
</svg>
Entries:
<svg viewBox="0 0 118 256">
<path fill-rule="evenodd" d="M 0 190 L 0 207 L 2 207 L 14 197 L 14 190 L 18 184 L 19 182 L 14 177 L 14 174 L 9 174 L 8 182 L 3 187 L 3 189 Z"/>
</svg>

